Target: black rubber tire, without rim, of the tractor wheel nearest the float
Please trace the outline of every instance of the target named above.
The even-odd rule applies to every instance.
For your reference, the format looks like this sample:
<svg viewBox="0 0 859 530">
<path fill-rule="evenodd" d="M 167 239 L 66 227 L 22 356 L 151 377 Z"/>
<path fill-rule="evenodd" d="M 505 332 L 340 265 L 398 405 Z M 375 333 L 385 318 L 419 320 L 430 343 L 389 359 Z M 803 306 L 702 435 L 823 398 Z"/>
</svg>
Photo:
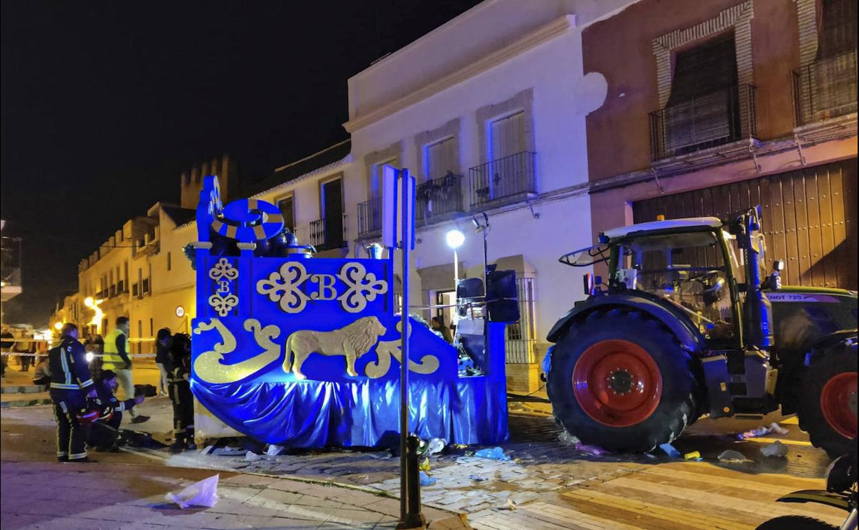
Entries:
<svg viewBox="0 0 859 530">
<path fill-rule="evenodd" d="M 588 352 L 587 360 L 594 356 L 594 349 L 588 350 L 594 344 L 598 344 L 595 351 L 599 352 L 599 344 L 617 340 L 643 349 L 655 361 L 661 376 L 661 395 L 655 410 L 643 419 L 634 418 L 637 423 L 624 426 L 612 425 L 611 418 L 609 423 L 595 419 L 577 397 L 576 393 L 582 394 L 581 382 L 579 390 L 574 390 L 573 384 L 576 363 L 582 354 Z M 660 322 L 640 311 L 612 309 L 594 312 L 570 325 L 552 350 L 546 387 L 555 417 L 571 435 L 615 453 L 642 453 L 672 442 L 698 414 L 698 400 L 703 396 L 696 377 L 700 370 L 698 361 Z M 591 402 L 584 405 L 593 410 L 593 400 L 587 395 L 584 399 Z"/>
</svg>

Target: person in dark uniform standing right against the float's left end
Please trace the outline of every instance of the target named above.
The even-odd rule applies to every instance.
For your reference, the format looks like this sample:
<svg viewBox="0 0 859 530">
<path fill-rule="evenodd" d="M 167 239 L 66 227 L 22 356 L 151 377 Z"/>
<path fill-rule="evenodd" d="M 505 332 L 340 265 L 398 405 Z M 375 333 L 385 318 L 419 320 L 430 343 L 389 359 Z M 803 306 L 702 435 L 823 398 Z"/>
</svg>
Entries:
<svg viewBox="0 0 859 530">
<path fill-rule="evenodd" d="M 173 371 L 170 374 L 169 393 L 173 401 L 174 452 L 196 449 L 194 443 L 194 394 L 191 393 L 191 338 L 176 333 L 170 341 Z"/>
</svg>

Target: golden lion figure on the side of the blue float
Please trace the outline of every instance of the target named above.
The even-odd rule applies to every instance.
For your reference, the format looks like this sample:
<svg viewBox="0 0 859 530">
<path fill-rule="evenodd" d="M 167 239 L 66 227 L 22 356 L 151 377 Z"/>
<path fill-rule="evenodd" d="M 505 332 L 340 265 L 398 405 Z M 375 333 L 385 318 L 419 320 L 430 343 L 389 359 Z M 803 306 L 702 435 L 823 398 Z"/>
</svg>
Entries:
<svg viewBox="0 0 859 530">
<path fill-rule="evenodd" d="M 283 371 L 291 371 L 295 379 L 305 379 L 302 363 L 315 352 L 326 356 L 345 356 L 346 373 L 356 376 L 355 360 L 367 353 L 385 332 L 385 326 L 375 316 L 365 316 L 331 332 L 293 332 L 286 339 Z M 295 361 L 292 360 L 293 356 Z"/>
</svg>

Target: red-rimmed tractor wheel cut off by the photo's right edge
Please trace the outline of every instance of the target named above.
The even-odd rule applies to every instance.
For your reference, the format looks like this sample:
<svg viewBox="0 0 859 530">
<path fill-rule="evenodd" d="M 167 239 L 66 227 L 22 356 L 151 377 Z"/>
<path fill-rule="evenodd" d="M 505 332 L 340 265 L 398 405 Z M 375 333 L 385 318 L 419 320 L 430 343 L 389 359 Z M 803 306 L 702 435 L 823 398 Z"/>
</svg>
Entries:
<svg viewBox="0 0 859 530">
<path fill-rule="evenodd" d="M 856 437 L 856 344 L 834 344 L 813 356 L 802 384 L 800 429 L 836 458 Z"/>
</svg>

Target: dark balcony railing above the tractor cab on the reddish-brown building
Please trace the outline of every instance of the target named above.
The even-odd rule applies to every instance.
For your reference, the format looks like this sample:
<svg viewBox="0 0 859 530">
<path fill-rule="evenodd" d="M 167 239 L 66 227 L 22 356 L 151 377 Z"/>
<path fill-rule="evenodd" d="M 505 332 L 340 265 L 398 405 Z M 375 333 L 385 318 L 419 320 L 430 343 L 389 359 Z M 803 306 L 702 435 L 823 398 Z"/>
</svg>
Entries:
<svg viewBox="0 0 859 530">
<path fill-rule="evenodd" d="M 650 155 L 658 161 L 757 133 L 755 88 L 724 88 L 650 113 Z"/>
</svg>

